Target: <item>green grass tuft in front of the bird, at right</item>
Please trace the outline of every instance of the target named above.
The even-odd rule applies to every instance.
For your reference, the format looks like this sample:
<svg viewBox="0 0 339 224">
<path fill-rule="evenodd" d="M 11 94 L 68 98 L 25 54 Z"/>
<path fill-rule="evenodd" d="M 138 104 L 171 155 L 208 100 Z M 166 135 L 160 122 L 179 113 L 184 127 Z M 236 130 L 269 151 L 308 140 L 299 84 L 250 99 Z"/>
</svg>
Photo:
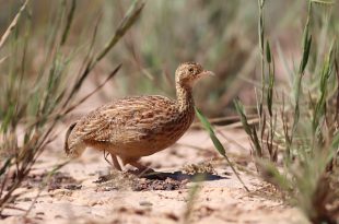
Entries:
<svg viewBox="0 0 339 224">
<path fill-rule="evenodd" d="M 259 46 L 261 51 L 261 97 L 259 123 L 249 125 L 244 106 L 234 105 L 255 151 L 255 162 L 262 178 L 276 185 L 292 204 L 296 204 L 313 223 L 337 223 L 338 175 L 338 69 L 337 43 L 331 39 L 324 56 L 314 50 L 319 38 L 313 34 L 312 19 L 317 7 L 332 7 L 331 1 L 308 1 L 307 19 L 302 37 L 302 52 L 294 84 L 279 98 L 276 86 L 274 54 L 269 40 L 264 46 L 265 1 L 258 1 Z M 325 21 L 323 26 L 328 26 Z M 326 46 L 326 45 L 325 45 Z M 264 55 L 266 49 L 266 56 Z M 313 64 L 313 58 L 319 63 Z M 337 75 L 335 75 L 335 72 Z M 307 75 L 306 75 L 307 74 Z M 316 89 L 314 90 L 314 87 Z M 331 89 L 335 87 L 332 91 Z M 277 92 L 277 94 L 273 94 Z M 266 96 L 266 102 L 264 102 Z M 290 96 L 287 104 L 285 96 Z M 291 103 L 290 103 L 291 102 Z M 281 116 L 277 116 L 280 113 Z M 259 135 L 258 135 L 259 134 Z M 282 160 L 278 161 L 278 146 Z M 269 156 L 267 156 L 269 155 Z"/>
</svg>

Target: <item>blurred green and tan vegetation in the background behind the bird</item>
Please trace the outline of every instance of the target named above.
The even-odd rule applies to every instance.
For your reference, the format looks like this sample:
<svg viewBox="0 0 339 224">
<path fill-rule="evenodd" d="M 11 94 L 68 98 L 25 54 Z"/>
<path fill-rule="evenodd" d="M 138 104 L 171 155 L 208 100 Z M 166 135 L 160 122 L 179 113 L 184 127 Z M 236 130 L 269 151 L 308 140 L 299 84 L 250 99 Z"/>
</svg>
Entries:
<svg viewBox="0 0 339 224">
<path fill-rule="evenodd" d="M 62 1 L 32 0 L 32 33 L 27 49 L 27 68 L 37 75 L 37 64 L 44 57 L 39 46 L 46 42 L 56 9 Z M 66 1 L 67 2 L 67 1 Z M 98 22 L 96 46 L 103 46 L 114 33 L 132 1 L 77 1 L 71 38 L 67 45 L 89 45 L 90 35 Z M 69 2 L 67 2 L 69 3 Z M 21 1 L 0 1 L 0 33 L 2 34 L 20 8 Z M 164 94 L 174 97 L 174 71 L 184 61 L 197 61 L 217 76 L 198 83 L 196 104 L 209 117 L 234 114 L 233 98 L 255 104 L 254 86 L 259 86 L 260 56 L 258 50 L 258 9 L 256 0 L 148 0 L 137 23 L 124 40 L 98 64 L 94 76 L 107 75 L 122 62 L 119 74 L 108 83 L 117 95 Z M 314 33 L 320 32 L 324 16 L 314 13 Z M 338 11 L 335 3 L 334 11 Z M 307 14 L 305 0 L 270 0 L 265 9 L 266 35 L 276 57 L 278 86 L 290 85 L 289 70 L 294 70 L 301 52 L 301 37 Z M 332 13 L 328 31 L 338 34 L 338 15 Z M 21 22 L 24 25 L 24 22 Z M 318 28 L 317 28 L 318 27 Z M 318 35 L 320 36 L 320 35 Z M 322 37 L 322 36 L 320 36 Z M 1 57 L 4 57 L 1 55 Z M 314 61 L 316 59 L 313 59 Z M 312 62 L 312 61 L 311 61 Z M 312 66 L 311 66 L 312 68 Z M 71 76 L 71 71 L 69 71 Z M 255 84 L 255 85 L 254 85 Z M 104 101 L 113 96 L 101 94 Z"/>
</svg>

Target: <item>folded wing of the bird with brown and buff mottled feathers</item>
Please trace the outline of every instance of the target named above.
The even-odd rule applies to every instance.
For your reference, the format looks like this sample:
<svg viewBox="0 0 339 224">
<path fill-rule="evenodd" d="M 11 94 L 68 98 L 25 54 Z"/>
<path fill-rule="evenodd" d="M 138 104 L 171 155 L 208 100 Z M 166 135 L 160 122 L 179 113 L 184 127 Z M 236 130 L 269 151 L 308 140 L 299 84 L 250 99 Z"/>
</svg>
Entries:
<svg viewBox="0 0 339 224">
<path fill-rule="evenodd" d="M 124 144 L 145 138 L 163 122 L 161 114 L 174 109 L 163 96 L 142 96 L 115 101 L 83 117 L 77 125 L 82 140 Z"/>
</svg>

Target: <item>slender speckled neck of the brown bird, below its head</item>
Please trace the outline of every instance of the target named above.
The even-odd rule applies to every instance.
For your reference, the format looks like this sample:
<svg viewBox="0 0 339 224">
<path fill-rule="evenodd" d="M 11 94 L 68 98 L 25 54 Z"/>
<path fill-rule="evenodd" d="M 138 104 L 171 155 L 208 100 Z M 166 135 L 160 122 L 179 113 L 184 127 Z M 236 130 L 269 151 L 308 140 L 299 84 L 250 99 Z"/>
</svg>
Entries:
<svg viewBox="0 0 339 224">
<path fill-rule="evenodd" d="M 176 97 L 179 111 L 192 110 L 195 106 L 191 86 L 176 84 Z"/>
</svg>

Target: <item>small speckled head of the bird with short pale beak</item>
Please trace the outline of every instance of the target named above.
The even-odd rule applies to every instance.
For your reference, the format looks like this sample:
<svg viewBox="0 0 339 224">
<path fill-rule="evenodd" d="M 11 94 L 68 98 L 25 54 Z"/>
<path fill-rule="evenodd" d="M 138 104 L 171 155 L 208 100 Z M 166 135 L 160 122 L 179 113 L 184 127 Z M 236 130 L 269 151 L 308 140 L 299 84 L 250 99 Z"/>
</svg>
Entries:
<svg viewBox="0 0 339 224">
<path fill-rule="evenodd" d="M 213 72 L 203 70 L 203 68 L 196 62 L 182 63 L 175 71 L 175 81 L 180 86 L 192 87 L 196 81 L 203 76 L 214 75 Z"/>
</svg>

